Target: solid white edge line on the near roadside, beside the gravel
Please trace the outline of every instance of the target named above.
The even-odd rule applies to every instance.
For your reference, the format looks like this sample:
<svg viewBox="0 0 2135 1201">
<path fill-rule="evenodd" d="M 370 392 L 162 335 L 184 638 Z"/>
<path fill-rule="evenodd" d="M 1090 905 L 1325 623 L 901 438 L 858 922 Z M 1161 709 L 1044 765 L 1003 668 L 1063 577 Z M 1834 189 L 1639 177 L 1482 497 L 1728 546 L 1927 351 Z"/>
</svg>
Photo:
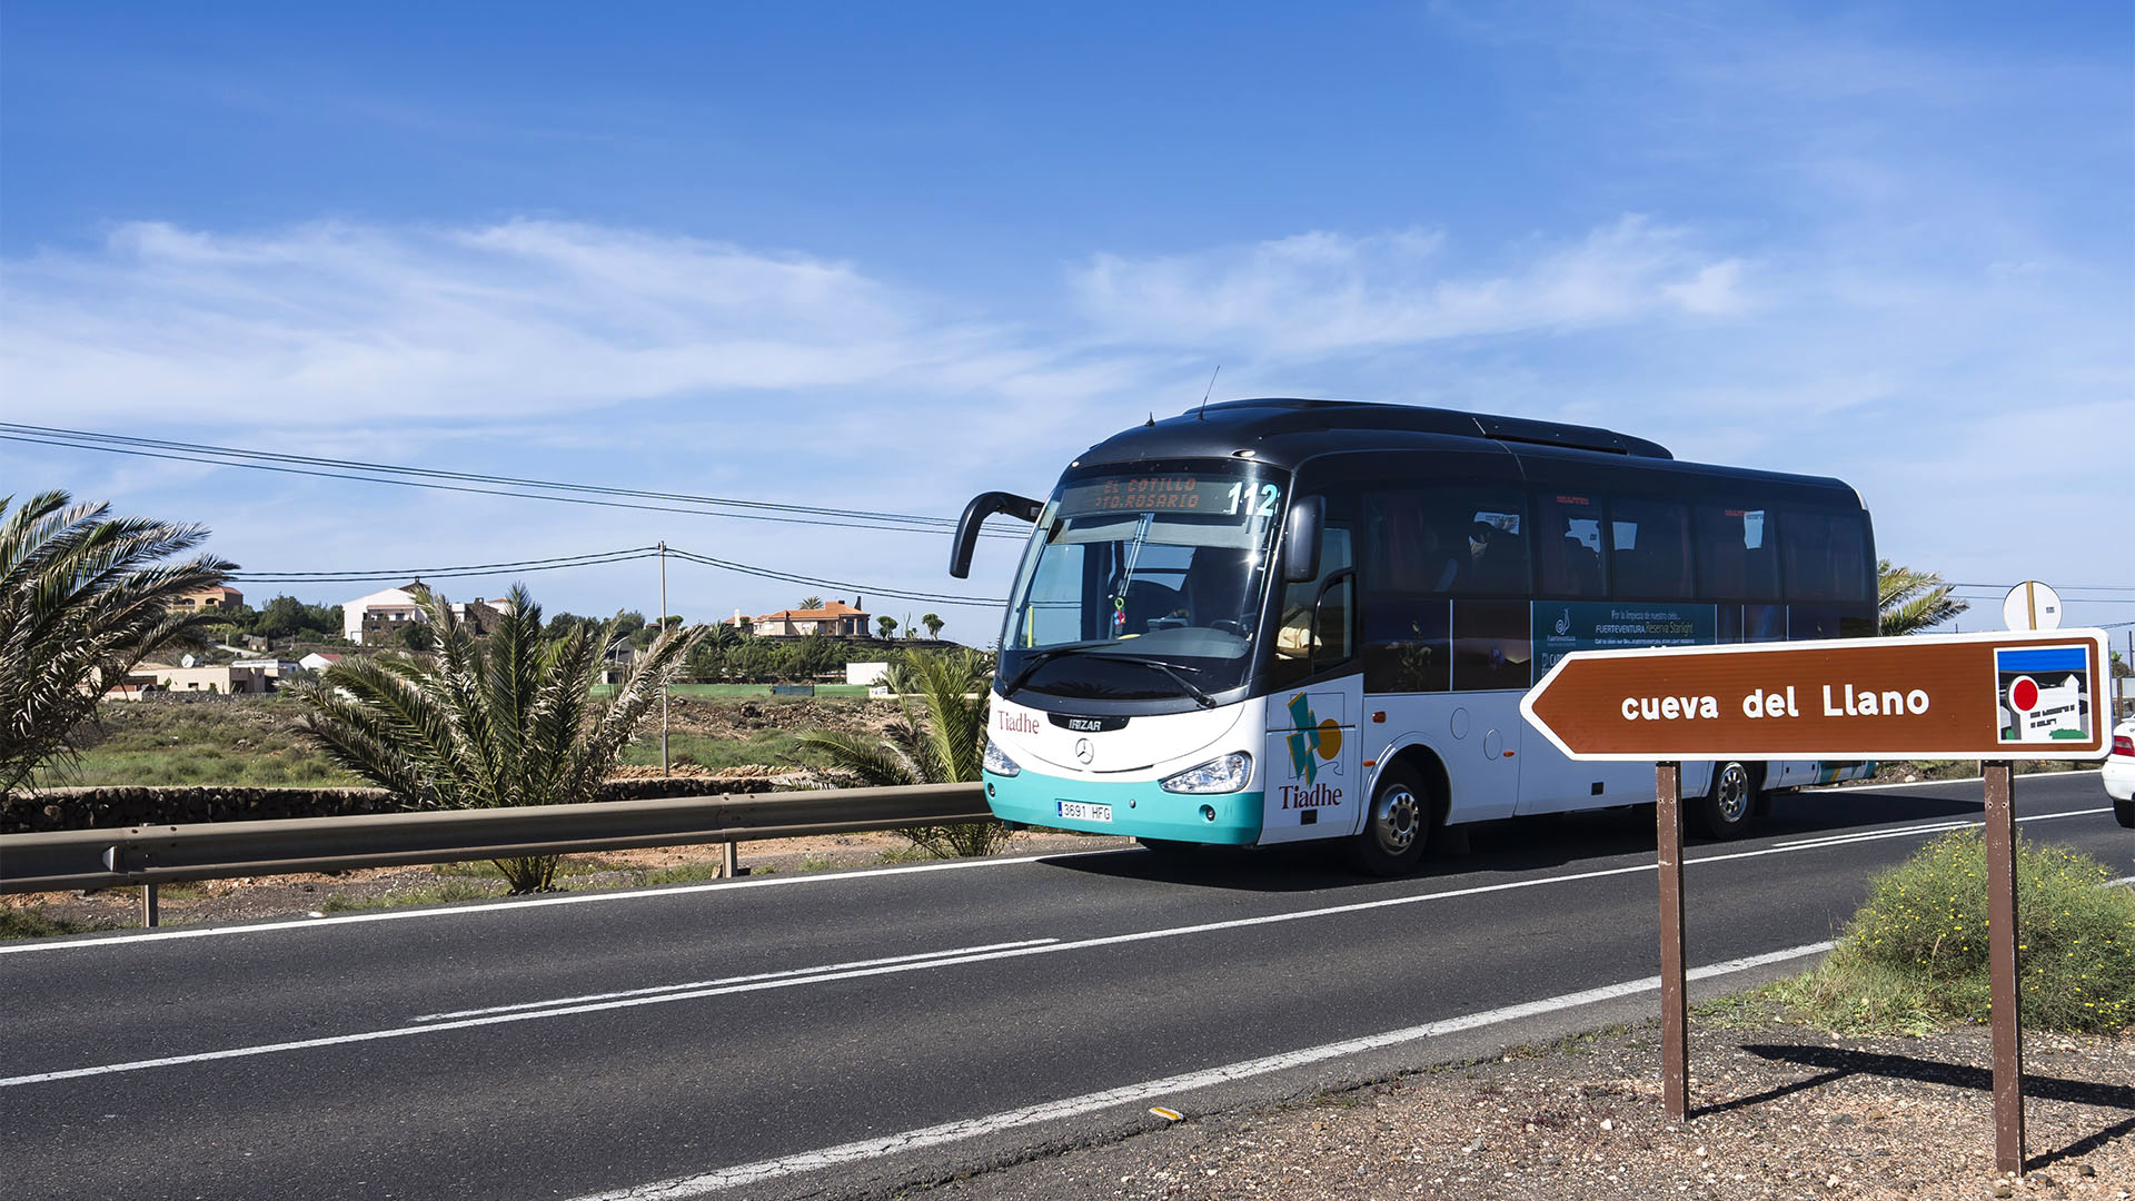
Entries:
<svg viewBox="0 0 2135 1201">
<path fill-rule="evenodd" d="M 1772 951 L 1766 955 L 1749 955 L 1742 960 L 1727 960 L 1725 964 L 1710 964 L 1704 968 L 1691 968 L 1685 972 L 1693 981 L 1721 977 L 1729 972 L 1742 972 L 1764 964 L 1778 964 L 1787 960 L 1800 960 L 1806 955 L 1819 955 L 1830 951 L 1830 942 L 1810 942 L 1806 947 L 1789 947 L 1785 951 Z M 1309 1066 L 1326 1060 L 1337 1060 L 1343 1056 L 1356 1056 L 1362 1051 L 1377 1051 L 1381 1047 L 1396 1047 L 1401 1043 L 1416 1043 L 1422 1039 L 1435 1039 L 1441 1034 L 1454 1034 L 1458 1030 L 1475 1030 L 1482 1026 L 1497 1026 L 1503 1021 L 1516 1021 L 1520 1017 L 1535 1017 L 1541 1013 L 1554 1013 L 1563 1009 L 1576 1009 L 1580 1004 L 1595 1004 L 1601 1000 L 1616 1000 L 1623 996 L 1638 996 L 1642 992 L 1659 992 L 1661 977 L 1646 977 L 1642 981 L 1625 981 L 1616 985 L 1593 987 L 1584 992 L 1567 992 L 1563 996 L 1552 996 L 1546 1000 L 1531 1000 L 1524 1004 L 1507 1004 L 1503 1009 L 1488 1009 L 1484 1013 L 1469 1013 L 1465 1017 L 1448 1017 L 1443 1021 L 1426 1021 L 1422 1026 L 1409 1026 L 1403 1030 L 1388 1030 L 1383 1034 L 1366 1034 L 1362 1039 L 1343 1039 L 1341 1043 L 1324 1043 L 1319 1047 L 1304 1047 L 1298 1051 L 1283 1051 L 1279 1056 L 1266 1056 L 1258 1060 L 1245 1060 L 1236 1064 L 1225 1064 L 1217 1069 L 1202 1069 L 1193 1073 L 1168 1075 L 1161 1079 L 1144 1079 L 1142 1083 L 1129 1083 L 1125 1088 L 1108 1088 L 1102 1092 L 1085 1092 L 1082 1096 L 1068 1096 L 1063 1101 L 1046 1101 L 1040 1105 L 1027 1105 L 1021 1109 L 1008 1109 L 1001 1113 L 991 1113 L 986 1118 L 965 1118 L 959 1122 L 946 1122 L 942 1126 L 924 1126 L 920 1130 L 905 1130 L 901 1135 L 888 1135 L 882 1139 L 863 1139 L 858 1143 L 841 1143 L 835 1148 L 822 1148 L 816 1152 L 803 1152 L 792 1156 L 779 1156 L 758 1163 L 745 1163 L 737 1167 L 724 1167 L 717 1171 L 707 1171 L 702 1175 L 681 1175 L 675 1180 L 660 1180 L 653 1184 L 636 1184 L 630 1188 L 617 1188 L 611 1192 L 591 1192 L 579 1197 L 576 1201 L 683 1201 L 690 1197 L 705 1197 L 707 1192 L 719 1192 L 722 1188 L 734 1188 L 741 1184 L 760 1184 L 764 1180 L 775 1180 L 781 1175 L 801 1175 L 807 1171 L 822 1171 L 831 1167 L 850 1167 L 854 1163 L 882 1158 L 897 1152 L 910 1152 L 920 1148 L 933 1148 L 942 1143 L 954 1143 L 961 1139 L 976 1139 L 980 1135 L 993 1135 L 997 1130 L 1012 1130 L 1016 1126 L 1031 1126 L 1038 1122 L 1055 1122 L 1061 1118 L 1074 1118 L 1078 1113 L 1093 1113 L 1097 1109 L 1108 1109 L 1112 1105 L 1149 1105 L 1161 1101 L 1168 1094 L 1193 1092 L 1198 1088 L 1208 1088 L 1217 1083 L 1230 1083 L 1238 1079 L 1249 1079 L 1255 1075 L 1279 1073 L 1285 1069 Z"/>
</svg>

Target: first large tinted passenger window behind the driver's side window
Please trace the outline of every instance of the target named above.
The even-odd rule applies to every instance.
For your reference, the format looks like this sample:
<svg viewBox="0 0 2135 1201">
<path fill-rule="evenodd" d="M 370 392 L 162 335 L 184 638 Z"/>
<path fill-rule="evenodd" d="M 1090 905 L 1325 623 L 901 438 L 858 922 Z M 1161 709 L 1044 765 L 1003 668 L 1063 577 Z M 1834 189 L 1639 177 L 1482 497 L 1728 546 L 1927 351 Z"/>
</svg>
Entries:
<svg viewBox="0 0 2135 1201">
<path fill-rule="evenodd" d="M 1524 594 L 1520 494 L 1505 487 L 1386 487 L 1364 494 L 1366 592 Z"/>
</svg>

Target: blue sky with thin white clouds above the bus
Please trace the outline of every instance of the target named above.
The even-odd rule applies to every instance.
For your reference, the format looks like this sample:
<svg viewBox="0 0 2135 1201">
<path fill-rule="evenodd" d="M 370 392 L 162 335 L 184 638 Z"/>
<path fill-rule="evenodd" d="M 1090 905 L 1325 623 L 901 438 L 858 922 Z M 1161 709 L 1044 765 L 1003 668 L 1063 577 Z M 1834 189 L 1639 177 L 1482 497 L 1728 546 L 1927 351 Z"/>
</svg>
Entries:
<svg viewBox="0 0 2135 1201">
<path fill-rule="evenodd" d="M 0 412 L 954 515 L 1221 363 L 1219 397 L 1836 474 L 1900 562 L 2135 596 L 2135 15 L 2015 13 L 17 0 Z M 19 442 L 0 479 L 203 521 L 254 571 L 666 539 L 997 596 L 1010 566 Z M 551 609 L 655 600 L 647 564 L 525 579 Z M 692 618 L 801 592 L 670 575 Z"/>
</svg>

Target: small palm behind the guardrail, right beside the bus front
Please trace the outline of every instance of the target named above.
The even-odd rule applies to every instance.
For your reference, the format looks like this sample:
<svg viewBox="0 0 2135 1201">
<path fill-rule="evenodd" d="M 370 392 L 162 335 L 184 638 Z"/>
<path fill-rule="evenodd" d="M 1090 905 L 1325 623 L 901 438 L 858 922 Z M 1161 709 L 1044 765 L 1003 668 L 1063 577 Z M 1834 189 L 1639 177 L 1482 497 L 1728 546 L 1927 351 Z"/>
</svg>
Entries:
<svg viewBox="0 0 2135 1201">
<path fill-rule="evenodd" d="M 901 716 L 882 739 L 818 729 L 798 737 L 801 750 L 820 752 L 831 763 L 824 776 L 835 782 L 884 789 L 978 780 L 986 759 L 991 675 L 986 656 L 976 650 L 905 652 L 888 675 Z M 922 825 L 899 833 L 944 859 L 993 855 L 1008 842 L 1008 827 L 997 821 Z"/>
</svg>

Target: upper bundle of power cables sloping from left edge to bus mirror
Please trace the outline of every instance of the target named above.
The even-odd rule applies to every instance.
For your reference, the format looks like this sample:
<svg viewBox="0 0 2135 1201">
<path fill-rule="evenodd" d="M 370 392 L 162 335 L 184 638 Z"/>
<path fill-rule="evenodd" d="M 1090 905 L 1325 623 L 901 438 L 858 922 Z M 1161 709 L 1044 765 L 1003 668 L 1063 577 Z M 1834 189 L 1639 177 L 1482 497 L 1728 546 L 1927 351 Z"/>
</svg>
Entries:
<svg viewBox="0 0 2135 1201">
<path fill-rule="evenodd" d="M 788 521 L 798 526 L 833 526 L 852 530 L 910 530 L 927 534 L 946 534 L 956 528 L 956 521 L 950 517 L 924 517 L 914 513 L 888 513 L 873 509 L 828 509 L 816 504 L 784 504 L 771 500 L 694 496 L 683 492 L 647 492 L 632 487 L 542 481 L 542 479 L 500 477 L 480 472 L 448 472 L 448 470 L 410 468 L 395 464 L 369 464 L 361 459 L 286 455 L 275 451 L 248 451 L 239 447 L 211 447 L 205 442 L 169 442 L 160 438 L 132 438 L 124 434 L 60 430 L 51 425 L 21 425 L 13 421 L 0 421 L 0 440 L 30 442 L 43 447 L 64 447 L 73 451 L 98 451 L 109 455 L 135 455 L 147 459 L 171 459 L 171 462 L 209 464 L 224 468 L 267 470 L 267 472 L 301 474 L 316 479 L 389 483 L 399 487 L 423 487 L 433 492 L 515 496 L 523 500 L 553 500 L 562 504 L 591 504 L 602 509 L 690 513 L 696 517 L 741 517 L 752 521 Z M 410 479 L 399 479 L 399 477 L 410 477 Z M 461 483 L 442 483 L 442 481 L 461 481 Z M 502 487 L 472 487 L 476 483 L 491 483 Z M 523 489 L 549 489 L 549 492 L 523 492 Z M 555 496 L 555 492 L 562 492 L 564 496 Z M 683 504 L 707 506 L 707 509 L 685 509 L 675 504 L 638 504 L 628 500 L 596 500 L 596 496 L 677 500 Z M 982 536 L 1018 539 L 1021 534 L 1010 530 L 982 530 Z"/>
</svg>

